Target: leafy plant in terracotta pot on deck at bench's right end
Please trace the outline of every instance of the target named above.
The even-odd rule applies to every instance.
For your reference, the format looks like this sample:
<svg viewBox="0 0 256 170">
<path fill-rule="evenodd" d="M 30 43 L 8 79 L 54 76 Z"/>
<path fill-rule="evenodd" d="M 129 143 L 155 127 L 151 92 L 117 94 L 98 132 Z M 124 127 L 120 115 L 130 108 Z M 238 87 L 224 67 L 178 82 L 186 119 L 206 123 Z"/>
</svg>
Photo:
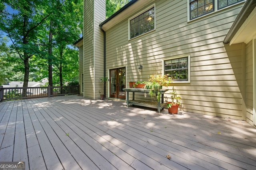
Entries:
<svg viewBox="0 0 256 170">
<path fill-rule="evenodd" d="M 172 87 L 172 92 L 170 92 L 170 94 L 171 102 L 168 102 L 166 100 L 168 112 L 172 114 L 177 114 L 178 108 L 180 106 L 180 96 L 178 96 L 176 89 L 174 87 Z"/>
</svg>

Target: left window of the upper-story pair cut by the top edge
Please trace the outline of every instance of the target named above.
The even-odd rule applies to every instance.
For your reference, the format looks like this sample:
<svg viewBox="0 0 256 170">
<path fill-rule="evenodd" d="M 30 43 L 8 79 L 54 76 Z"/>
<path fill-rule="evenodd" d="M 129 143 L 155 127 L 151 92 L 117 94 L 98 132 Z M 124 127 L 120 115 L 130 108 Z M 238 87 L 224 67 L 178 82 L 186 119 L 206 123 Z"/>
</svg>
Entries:
<svg viewBox="0 0 256 170">
<path fill-rule="evenodd" d="M 190 19 L 198 18 L 214 11 L 214 0 L 190 0 Z"/>
</svg>

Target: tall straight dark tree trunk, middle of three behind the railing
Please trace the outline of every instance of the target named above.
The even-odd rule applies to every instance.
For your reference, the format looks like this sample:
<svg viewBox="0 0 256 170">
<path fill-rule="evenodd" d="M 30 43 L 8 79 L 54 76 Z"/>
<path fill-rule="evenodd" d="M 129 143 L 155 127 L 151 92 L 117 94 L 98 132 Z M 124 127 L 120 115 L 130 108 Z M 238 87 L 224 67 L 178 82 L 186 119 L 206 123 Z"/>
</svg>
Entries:
<svg viewBox="0 0 256 170">
<path fill-rule="evenodd" d="M 52 20 L 50 21 L 50 31 L 49 31 L 48 76 L 49 76 L 48 78 L 49 85 L 52 86 Z"/>
</svg>

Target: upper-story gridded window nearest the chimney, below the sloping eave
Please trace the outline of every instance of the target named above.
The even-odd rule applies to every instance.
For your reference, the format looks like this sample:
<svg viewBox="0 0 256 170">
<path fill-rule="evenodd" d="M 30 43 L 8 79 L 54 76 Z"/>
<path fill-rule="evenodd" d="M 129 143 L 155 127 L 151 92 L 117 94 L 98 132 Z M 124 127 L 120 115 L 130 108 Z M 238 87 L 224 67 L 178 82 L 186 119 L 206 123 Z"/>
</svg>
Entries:
<svg viewBox="0 0 256 170">
<path fill-rule="evenodd" d="M 155 29 L 155 8 L 130 20 L 130 39 Z"/>
</svg>

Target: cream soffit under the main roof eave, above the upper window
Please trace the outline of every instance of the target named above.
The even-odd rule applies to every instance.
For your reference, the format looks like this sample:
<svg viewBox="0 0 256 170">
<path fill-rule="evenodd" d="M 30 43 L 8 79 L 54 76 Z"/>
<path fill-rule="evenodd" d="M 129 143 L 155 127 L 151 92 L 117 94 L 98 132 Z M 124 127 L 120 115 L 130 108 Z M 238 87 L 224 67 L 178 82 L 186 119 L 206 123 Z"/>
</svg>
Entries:
<svg viewBox="0 0 256 170">
<path fill-rule="evenodd" d="M 104 23 L 102 25 L 102 29 L 104 29 L 104 31 L 110 29 L 114 25 L 123 21 L 125 18 L 127 18 L 131 15 L 135 15 L 136 13 L 134 13 L 134 12 L 137 12 L 138 10 L 143 10 L 143 8 L 152 5 L 151 4 L 152 2 L 154 2 L 154 0 L 138 0 L 138 1 L 136 1 L 134 4 L 132 4 L 125 10 L 123 10 L 121 13 L 116 15 L 114 18 L 112 18 L 108 22 Z"/>
</svg>

